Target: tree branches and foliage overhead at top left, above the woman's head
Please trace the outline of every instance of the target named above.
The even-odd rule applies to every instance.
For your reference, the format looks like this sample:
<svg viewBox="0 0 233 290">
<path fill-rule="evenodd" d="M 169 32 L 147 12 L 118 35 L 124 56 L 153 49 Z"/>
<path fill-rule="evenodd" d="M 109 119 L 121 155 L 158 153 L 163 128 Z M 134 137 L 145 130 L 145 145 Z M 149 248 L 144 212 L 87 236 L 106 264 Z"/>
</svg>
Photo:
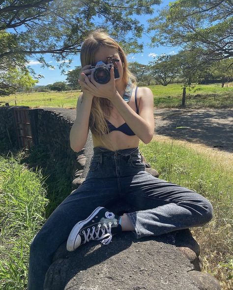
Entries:
<svg viewBox="0 0 233 290">
<path fill-rule="evenodd" d="M 138 52 L 143 45 L 143 25 L 133 14 L 152 14 L 160 0 L 7 0 L 0 2 L 0 32 L 8 29 L 13 41 L 6 43 L 0 59 L 18 58 L 25 61 L 35 56 L 43 66 L 43 55 L 50 53 L 63 69 L 72 54 L 79 53 L 81 44 L 91 30 L 102 28 L 122 44 L 126 52 Z M 96 21 L 98 17 L 98 21 Z M 10 29 L 10 30 L 9 30 Z M 132 32 L 131 37 L 126 37 Z M 1 46 L 1 43 L 0 43 Z M 68 58 L 68 63 L 64 61 Z M 33 70 L 31 70 L 33 72 Z M 63 71 L 64 72 L 64 71 Z"/>
</svg>

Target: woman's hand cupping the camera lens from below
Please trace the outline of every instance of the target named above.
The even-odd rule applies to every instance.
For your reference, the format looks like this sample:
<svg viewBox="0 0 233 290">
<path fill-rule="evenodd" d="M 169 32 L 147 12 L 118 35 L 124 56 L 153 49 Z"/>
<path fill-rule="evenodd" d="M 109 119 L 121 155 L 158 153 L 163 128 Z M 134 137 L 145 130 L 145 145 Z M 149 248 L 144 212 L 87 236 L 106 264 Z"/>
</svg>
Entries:
<svg viewBox="0 0 233 290">
<path fill-rule="evenodd" d="M 94 71 L 91 72 L 90 80 L 84 74 L 87 90 L 94 95 L 94 97 L 104 97 L 109 100 L 113 99 L 117 94 L 116 81 L 114 76 L 114 68 L 110 70 L 110 81 L 107 84 L 99 84 L 94 80 Z"/>
</svg>

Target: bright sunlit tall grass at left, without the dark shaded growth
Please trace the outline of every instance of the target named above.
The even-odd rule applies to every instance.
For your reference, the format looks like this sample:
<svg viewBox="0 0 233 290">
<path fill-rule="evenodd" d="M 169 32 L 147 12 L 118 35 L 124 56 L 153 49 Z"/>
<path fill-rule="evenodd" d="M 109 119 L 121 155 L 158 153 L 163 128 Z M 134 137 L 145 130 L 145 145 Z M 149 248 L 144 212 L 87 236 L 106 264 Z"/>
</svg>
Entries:
<svg viewBox="0 0 233 290">
<path fill-rule="evenodd" d="M 0 156 L 1 290 L 27 288 L 30 242 L 45 222 L 49 201 L 44 185 L 40 170 Z"/>
</svg>

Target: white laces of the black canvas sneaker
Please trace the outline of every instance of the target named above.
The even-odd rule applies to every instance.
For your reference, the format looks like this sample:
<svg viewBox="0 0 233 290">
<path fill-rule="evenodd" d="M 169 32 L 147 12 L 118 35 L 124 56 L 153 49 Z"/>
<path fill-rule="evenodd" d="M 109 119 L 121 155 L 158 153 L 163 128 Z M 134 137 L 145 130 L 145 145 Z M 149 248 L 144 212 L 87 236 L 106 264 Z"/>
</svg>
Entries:
<svg viewBox="0 0 233 290">
<path fill-rule="evenodd" d="M 92 226 L 92 231 L 90 232 L 90 228 L 87 228 L 87 233 L 83 230 L 84 234 L 84 244 L 89 242 L 90 240 L 102 240 L 100 241 L 103 245 L 108 245 L 112 240 L 111 226 L 112 223 L 109 223 L 109 228 L 106 224 L 104 224 L 104 228 L 100 228 L 101 225 L 98 225 L 98 229 L 95 229 L 95 226 Z M 102 232 L 100 232 L 100 230 Z M 106 233 L 105 233 L 106 231 Z M 95 236 L 94 236 L 95 235 Z M 100 235 L 100 236 L 99 236 Z"/>
</svg>

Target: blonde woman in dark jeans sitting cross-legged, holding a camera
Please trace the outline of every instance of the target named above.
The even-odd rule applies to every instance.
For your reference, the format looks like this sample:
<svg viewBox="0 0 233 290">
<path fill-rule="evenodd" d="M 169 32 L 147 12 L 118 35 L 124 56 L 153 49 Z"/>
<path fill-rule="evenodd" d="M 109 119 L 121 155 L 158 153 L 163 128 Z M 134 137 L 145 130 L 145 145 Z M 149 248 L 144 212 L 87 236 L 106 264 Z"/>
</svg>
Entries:
<svg viewBox="0 0 233 290">
<path fill-rule="evenodd" d="M 100 61 L 113 64 L 109 81 L 94 74 Z M 83 93 L 70 145 L 76 152 L 82 150 L 90 128 L 94 154 L 86 180 L 55 209 L 31 242 L 28 290 L 43 289 L 53 255 L 65 241 L 67 250 L 74 251 L 89 240 L 109 244 L 121 231 L 133 231 L 140 239 L 203 226 L 212 218 L 212 205 L 202 195 L 145 171 L 139 140 L 149 143 L 153 137 L 153 94 L 136 87 L 117 42 L 105 32 L 92 32 L 82 45 L 81 63 Z M 140 210 L 117 216 L 105 208 L 119 198 Z"/>
</svg>

